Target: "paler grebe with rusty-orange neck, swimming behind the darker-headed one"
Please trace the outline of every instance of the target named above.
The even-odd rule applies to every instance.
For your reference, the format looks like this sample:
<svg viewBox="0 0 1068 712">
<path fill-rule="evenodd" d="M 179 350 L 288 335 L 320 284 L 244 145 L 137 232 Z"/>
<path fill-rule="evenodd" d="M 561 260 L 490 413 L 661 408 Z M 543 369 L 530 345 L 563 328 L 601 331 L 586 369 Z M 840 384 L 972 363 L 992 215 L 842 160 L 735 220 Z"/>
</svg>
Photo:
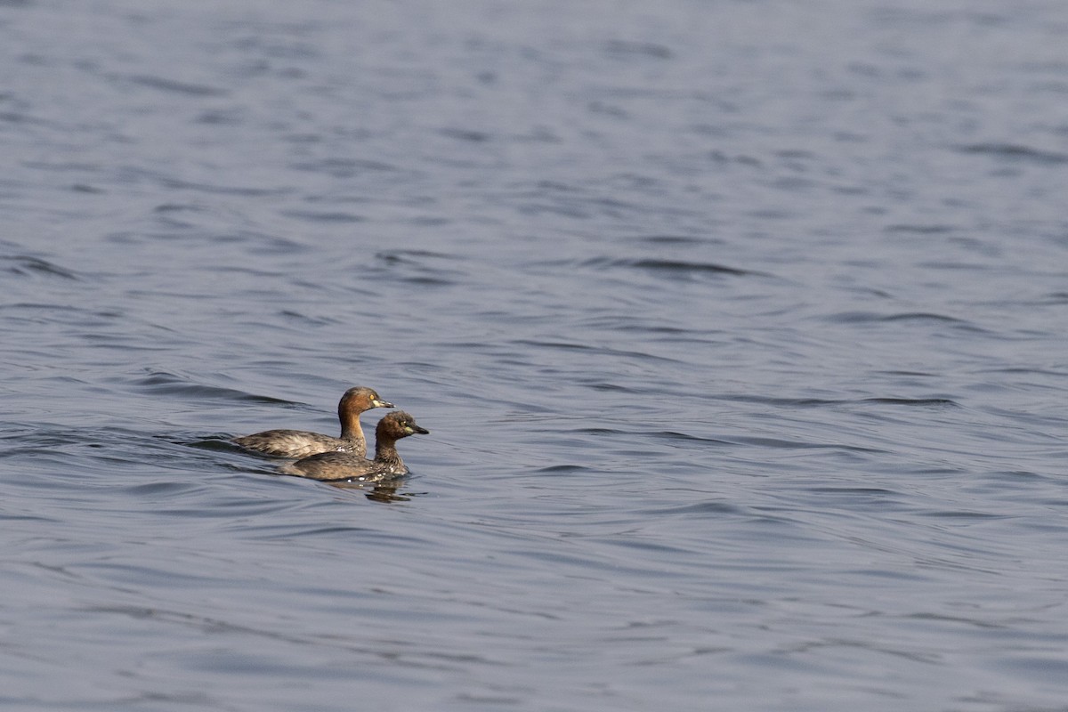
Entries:
<svg viewBox="0 0 1068 712">
<path fill-rule="evenodd" d="M 393 408 L 393 404 L 382 400 L 371 389 L 356 386 L 346 391 L 337 404 L 340 438 L 308 430 L 264 430 L 234 438 L 234 442 L 246 449 L 277 457 L 308 457 L 331 452 L 363 457 L 367 453 L 367 442 L 360 427 L 360 414 L 372 408 Z"/>
</svg>

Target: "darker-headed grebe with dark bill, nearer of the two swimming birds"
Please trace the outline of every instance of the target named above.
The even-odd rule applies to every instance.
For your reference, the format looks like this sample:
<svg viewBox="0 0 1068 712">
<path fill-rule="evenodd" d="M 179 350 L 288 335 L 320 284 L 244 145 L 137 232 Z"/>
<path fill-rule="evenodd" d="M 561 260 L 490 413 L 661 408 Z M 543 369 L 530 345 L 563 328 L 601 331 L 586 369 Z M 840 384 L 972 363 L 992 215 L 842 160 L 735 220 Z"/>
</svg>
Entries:
<svg viewBox="0 0 1068 712">
<path fill-rule="evenodd" d="M 396 442 L 415 433 L 428 434 L 404 411 L 387 414 L 375 428 L 375 459 L 352 453 L 320 453 L 284 465 L 281 472 L 312 479 L 376 482 L 407 474 L 408 468 L 397 454 Z"/>
</svg>

